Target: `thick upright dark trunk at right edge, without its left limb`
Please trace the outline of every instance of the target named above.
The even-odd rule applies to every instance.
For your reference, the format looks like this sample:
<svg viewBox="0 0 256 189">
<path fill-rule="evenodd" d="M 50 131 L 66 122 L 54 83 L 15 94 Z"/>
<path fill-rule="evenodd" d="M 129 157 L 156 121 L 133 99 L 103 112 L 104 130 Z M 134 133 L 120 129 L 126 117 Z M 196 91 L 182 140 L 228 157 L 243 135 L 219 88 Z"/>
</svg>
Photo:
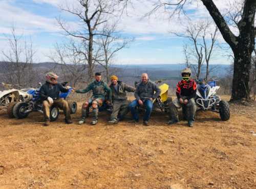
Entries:
<svg viewBox="0 0 256 189">
<path fill-rule="evenodd" d="M 252 0 L 247 0 L 245 3 L 247 6 L 244 7 L 242 19 L 239 21 L 238 44 L 236 48 L 232 48 L 234 73 L 231 100 L 250 98 L 251 55 L 255 45 L 254 18 L 256 3 Z"/>
</svg>

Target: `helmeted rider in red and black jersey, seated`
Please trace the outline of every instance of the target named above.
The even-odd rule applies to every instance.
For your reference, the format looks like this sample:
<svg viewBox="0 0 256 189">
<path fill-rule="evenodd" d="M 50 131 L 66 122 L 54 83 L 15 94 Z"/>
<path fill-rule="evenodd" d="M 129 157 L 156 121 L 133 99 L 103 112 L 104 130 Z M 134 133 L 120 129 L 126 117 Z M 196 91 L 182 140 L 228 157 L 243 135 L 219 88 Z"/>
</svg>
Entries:
<svg viewBox="0 0 256 189">
<path fill-rule="evenodd" d="M 188 121 L 188 126 L 193 127 L 197 110 L 197 105 L 194 99 L 197 93 L 197 84 L 195 80 L 190 78 L 190 75 L 191 70 L 189 68 L 185 68 L 181 71 L 182 80 L 177 85 L 177 98 L 173 102 L 169 103 L 169 125 L 179 121 L 178 109 L 182 107 L 186 110 L 186 120 Z"/>
</svg>

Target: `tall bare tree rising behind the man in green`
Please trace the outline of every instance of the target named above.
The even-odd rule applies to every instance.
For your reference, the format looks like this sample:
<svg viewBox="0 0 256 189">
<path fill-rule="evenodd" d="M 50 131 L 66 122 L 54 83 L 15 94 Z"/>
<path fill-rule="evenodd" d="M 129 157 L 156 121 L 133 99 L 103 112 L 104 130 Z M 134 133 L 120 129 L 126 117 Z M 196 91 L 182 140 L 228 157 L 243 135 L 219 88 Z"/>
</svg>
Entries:
<svg viewBox="0 0 256 189">
<path fill-rule="evenodd" d="M 88 64 L 89 82 L 93 78 L 94 65 L 99 58 L 99 48 L 96 46 L 95 41 L 101 35 L 102 26 L 108 22 L 109 15 L 114 12 L 115 2 L 104 0 L 76 0 L 78 6 L 67 5 L 61 7 L 62 11 L 68 12 L 76 16 L 79 20 L 79 28 L 72 30 L 61 19 L 58 19 L 58 24 L 61 29 L 65 31 L 67 36 L 75 38 L 80 41 L 79 48 L 74 48 L 76 53 L 82 54 Z M 82 47 L 82 48 L 81 48 Z"/>
</svg>

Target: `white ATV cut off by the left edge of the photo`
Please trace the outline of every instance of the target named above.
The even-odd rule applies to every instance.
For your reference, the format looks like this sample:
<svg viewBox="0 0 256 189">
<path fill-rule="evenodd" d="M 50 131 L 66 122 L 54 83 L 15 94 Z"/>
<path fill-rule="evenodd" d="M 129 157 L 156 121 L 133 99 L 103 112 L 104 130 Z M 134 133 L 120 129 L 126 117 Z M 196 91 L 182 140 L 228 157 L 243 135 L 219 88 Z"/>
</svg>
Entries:
<svg viewBox="0 0 256 189">
<path fill-rule="evenodd" d="M 7 111 L 9 118 L 13 118 L 12 109 L 14 104 L 17 102 L 25 102 L 32 98 L 32 95 L 28 94 L 26 89 L 18 90 L 18 89 L 10 89 L 14 87 L 9 84 L 1 84 L 5 87 L 4 91 L 0 91 L 0 110 Z"/>
</svg>

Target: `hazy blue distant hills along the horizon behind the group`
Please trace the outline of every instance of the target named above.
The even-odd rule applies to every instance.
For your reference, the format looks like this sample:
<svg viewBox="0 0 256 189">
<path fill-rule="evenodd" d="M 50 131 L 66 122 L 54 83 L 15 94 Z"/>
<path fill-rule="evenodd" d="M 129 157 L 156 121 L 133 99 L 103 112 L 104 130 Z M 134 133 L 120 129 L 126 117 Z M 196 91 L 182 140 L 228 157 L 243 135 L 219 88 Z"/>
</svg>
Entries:
<svg viewBox="0 0 256 189">
<path fill-rule="evenodd" d="M 0 81 L 4 80 L 1 78 L 1 75 L 4 75 L 5 72 L 10 69 L 10 62 L 0 62 Z M 8 66 L 9 65 L 9 66 Z M 9 67 L 9 68 L 8 68 Z M 118 75 L 119 79 L 123 82 L 126 82 L 129 85 L 133 85 L 135 81 L 140 80 L 141 73 L 148 73 L 151 80 L 156 81 L 159 79 L 165 79 L 165 83 L 169 84 L 171 87 L 175 87 L 178 80 L 181 79 L 180 71 L 185 68 L 185 65 L 182 64 L 132 64 L 132 65 L 112 65 L 111 74 Z M 66 69 L 65 74 L 62 72 L 61 64 L 53 62 L 42 62 L 34 63 L 33 69 L 37 74 L 38 80 L 43 81 L 44 75 L 48 71 L 53 71 L 60 76 L 60 80 L 67 80 L 69 69 Z M 73 69 L 73 68 L 71 68 Z M 77 68 L 76 68 L 77 69 Z M 79 68 L 78 68 L 79 69 Z M 212 64 L 210 65 L 210 77 L 224 77 L 230 70 L 230 65 L 221 65 L 221 64 Z M 100 65 L 95 66 L 95 71 L 103 72 L 104 69 Z M 87 75 L 87 70 L 84 70 L 84 73 Z M 202 68 L 202 77 L 205 77 L 205 66 Z M 65 79 L 66 78 L 66 79 Z M 69 80 L 69 79 L 68 79 Z M 8 81 L 5 81 L 8 82 Z"/>
</svg>

